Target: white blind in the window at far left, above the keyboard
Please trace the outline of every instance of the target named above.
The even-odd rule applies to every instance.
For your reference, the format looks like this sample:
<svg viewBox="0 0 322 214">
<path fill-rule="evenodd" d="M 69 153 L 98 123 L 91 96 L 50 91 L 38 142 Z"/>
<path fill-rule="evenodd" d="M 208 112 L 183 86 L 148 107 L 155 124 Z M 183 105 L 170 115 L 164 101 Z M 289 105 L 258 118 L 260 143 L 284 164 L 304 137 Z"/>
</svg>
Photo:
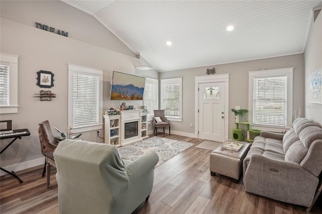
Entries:
<svg viewBox="0 0 322 214">
<path fill-rule="evenodd" d="M 0 104 L 1 105 L 9 105 L 9 83 L 10 83 L 9 66 L 0 65 Z"/>
</svg>

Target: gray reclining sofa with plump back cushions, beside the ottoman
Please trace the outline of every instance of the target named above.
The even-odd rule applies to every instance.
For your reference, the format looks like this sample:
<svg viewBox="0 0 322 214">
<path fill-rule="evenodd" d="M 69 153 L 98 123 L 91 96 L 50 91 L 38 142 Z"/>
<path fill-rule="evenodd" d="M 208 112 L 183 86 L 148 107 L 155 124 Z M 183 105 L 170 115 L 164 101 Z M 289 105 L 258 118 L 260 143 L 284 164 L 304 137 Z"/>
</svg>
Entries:
<svg viewBox="0 0 322 214">
<path fill-rule="evenodd" d="M 322 128 L 298 118 L 282 133 L 262 131 L 243 162 L 247 192 L 310 207 L 322 170 Z"/>
</svg>

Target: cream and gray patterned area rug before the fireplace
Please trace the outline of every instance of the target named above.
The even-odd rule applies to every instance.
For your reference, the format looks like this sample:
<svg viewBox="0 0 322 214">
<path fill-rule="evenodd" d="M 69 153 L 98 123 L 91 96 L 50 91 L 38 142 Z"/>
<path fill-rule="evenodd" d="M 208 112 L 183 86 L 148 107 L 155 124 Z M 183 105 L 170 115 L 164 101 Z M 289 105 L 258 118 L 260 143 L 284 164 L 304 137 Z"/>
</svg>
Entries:
<svg viewBox="0 0 322 214">
<path fill-rule="evenodd" d="M 194 144 L 168 138 L 151 137 L 118 149 L 122 158 L 127 160 L 135 160 L 147 152 L 155 152 L 159 156 L 156 166 L 159 166 L 192 145 Z"/>
</svg>

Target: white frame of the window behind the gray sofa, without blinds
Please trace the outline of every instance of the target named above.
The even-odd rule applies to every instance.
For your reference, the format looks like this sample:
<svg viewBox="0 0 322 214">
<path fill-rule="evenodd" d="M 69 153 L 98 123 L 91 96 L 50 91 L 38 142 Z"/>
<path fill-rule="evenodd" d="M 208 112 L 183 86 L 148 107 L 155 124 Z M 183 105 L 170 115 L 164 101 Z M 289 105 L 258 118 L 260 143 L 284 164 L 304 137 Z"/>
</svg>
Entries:
<svg viewBox="0 0 322 214">
<path fill-rule="evenodd" d="M 287 89 L 286 89 L 286 125 L 285 127 L 273 126 L 273 125 L 254 125 L 253 114 L 254 114 L 254 78 L 257 77 L 278 77 L 286 76 Z M 281 131 L 292 127 L 292 111 L 293 111 L 293 67 L 290 68 L 279 68 L 269 70 L 257 70 L 249 71 L 249 121 L 252 123 L 253 129 L 261 129 L 266 127 L 267 131 Z M 267 129 L 268 128 L 268 129 Z"/>
</svg>

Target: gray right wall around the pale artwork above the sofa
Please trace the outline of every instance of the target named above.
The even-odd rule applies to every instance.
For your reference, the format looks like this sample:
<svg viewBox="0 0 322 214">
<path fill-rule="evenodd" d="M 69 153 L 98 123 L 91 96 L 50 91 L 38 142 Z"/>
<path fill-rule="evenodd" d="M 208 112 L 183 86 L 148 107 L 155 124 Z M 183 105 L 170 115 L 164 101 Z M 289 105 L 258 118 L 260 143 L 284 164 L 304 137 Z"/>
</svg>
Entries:
<svg viewBox="0 0 322 214">
<path fill-rule="evenodd" d="M 305 59 L 305 117 L 322 127 L 322 103 L 309 102 L 309 76 L 322 68 L 322 12 L 315 22 L 313 16 L 304 52 Z"/>
</svg>

